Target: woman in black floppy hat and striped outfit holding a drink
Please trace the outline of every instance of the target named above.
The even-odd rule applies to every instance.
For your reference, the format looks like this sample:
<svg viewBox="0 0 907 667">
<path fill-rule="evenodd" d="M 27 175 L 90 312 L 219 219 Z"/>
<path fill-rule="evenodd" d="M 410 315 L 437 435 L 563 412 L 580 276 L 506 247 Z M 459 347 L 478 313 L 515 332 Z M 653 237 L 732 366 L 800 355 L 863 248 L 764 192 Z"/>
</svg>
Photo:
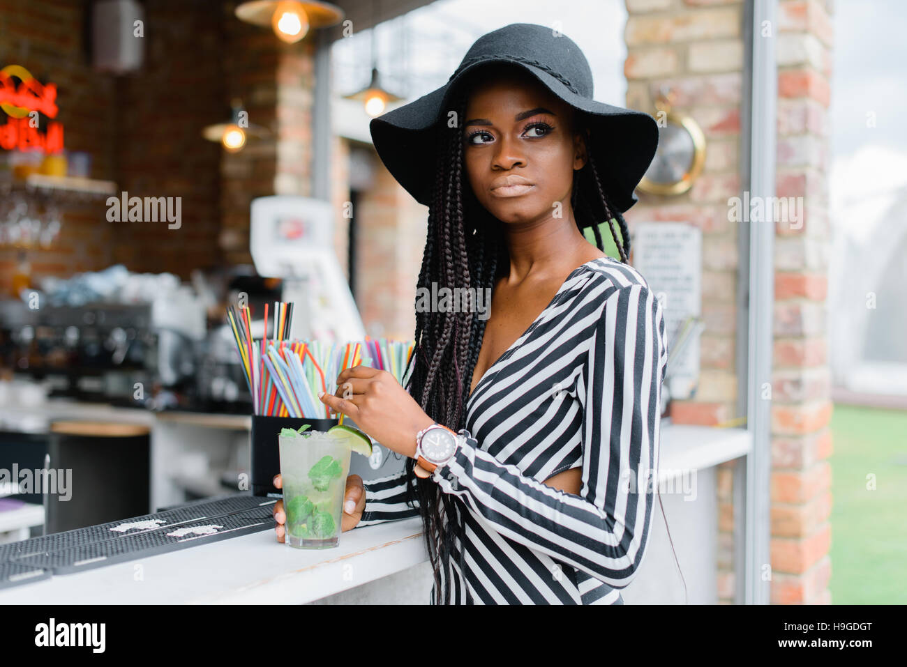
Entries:
<svg viewBox="0 0 907 667">
<path fill-rule="evenodd" d="M 668 350 L 619 211 L 658 130 L 591 92 L 575 43 L 511 24 L 371 124 L 429 207 L 418 286 L 493 290 L 487 319 L 417 312 L 406 389 L 357 366 L 321 396 L 408 457 L 395 476 L 348 479 L 343 530 L 421 514 L 433 604 L 622 604 L 645 554 Z M 275 516 L 282 541 L 280 502 Z"/>
</svg>

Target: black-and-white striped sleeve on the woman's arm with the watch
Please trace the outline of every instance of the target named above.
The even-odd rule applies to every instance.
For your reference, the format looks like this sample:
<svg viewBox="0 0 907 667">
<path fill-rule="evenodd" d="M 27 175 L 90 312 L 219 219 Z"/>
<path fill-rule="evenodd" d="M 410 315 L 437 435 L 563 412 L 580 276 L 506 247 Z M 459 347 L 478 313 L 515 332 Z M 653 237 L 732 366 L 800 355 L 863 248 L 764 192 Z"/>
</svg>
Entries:
<svg viewBox="0 0 907 667">
<path fill-rule="evenodd" d="M 623 588 L 642 562 L 653 515 L 649 479 L 657 479 L 667 361 L 661 306 L 647 285 L 615 288 L 603 297 L 592 332 L 578 388 L 579 496 L 523 476 L 469 431 L 433 478 L 502 536 Z"/>
</svg>

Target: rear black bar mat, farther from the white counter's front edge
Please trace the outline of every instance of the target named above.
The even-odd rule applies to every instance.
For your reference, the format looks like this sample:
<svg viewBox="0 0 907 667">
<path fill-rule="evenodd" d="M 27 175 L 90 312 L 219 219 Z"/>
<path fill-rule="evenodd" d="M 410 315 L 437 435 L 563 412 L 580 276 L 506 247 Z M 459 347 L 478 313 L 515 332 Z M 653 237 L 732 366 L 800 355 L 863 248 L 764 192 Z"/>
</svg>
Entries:
<svg viewBox="0 0 907 667">
<path fill-rule="evenodd" d="M 75 546 L 137 535 L 159 527 L 188 524 L 200 519 L 235 514 L 250 508 L 267 507 L 270 512 L 276 501 L 277 498 L 260 498 L 250 494 L 201 498 L 156 514 L 125 518 L 122 521 L 75 528 L 63 533 L 30 537 L 19 542 L 0 545 L 0 563 L 18 561 L 20 558 L 32 554 L 53 553 Z M 130 526 L 130 524 L 134 525 Z M 118 530 L 114 530 L 114 528 L 118 528 Z"/>
</svg>

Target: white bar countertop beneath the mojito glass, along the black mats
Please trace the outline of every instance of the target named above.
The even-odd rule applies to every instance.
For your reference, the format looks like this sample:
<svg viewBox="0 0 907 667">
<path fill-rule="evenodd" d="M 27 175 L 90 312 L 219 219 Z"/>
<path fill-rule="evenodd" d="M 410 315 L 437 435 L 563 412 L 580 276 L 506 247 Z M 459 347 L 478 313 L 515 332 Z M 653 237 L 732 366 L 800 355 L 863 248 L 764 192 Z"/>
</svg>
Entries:
<svg viewBox="0 0 907 667">
<path fill-rule="evenodd" d="M 295 549 L 268 529 L 0 589 L 0 604 L 304 604 L 364 586 L 362 599 L 427 559 L 419 517 L 348 530 L 332 549 Z M 425 574 L 413 583 L 427 603 Z"/>
</svg>

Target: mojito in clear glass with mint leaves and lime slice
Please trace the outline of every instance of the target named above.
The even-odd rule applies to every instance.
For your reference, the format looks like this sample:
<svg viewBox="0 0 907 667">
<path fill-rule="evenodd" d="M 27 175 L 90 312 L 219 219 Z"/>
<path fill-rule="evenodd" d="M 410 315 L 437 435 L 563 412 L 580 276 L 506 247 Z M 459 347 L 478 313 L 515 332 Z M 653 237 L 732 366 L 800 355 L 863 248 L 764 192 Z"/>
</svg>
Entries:
<svg viewBox="0 0 907 667">
<path fill-rule="evenodd" d="M 337 546 L 352 451 L 349 443 L 327 432 L 286 429 L 278 443 L 288 545 Z"/>
</svg>

